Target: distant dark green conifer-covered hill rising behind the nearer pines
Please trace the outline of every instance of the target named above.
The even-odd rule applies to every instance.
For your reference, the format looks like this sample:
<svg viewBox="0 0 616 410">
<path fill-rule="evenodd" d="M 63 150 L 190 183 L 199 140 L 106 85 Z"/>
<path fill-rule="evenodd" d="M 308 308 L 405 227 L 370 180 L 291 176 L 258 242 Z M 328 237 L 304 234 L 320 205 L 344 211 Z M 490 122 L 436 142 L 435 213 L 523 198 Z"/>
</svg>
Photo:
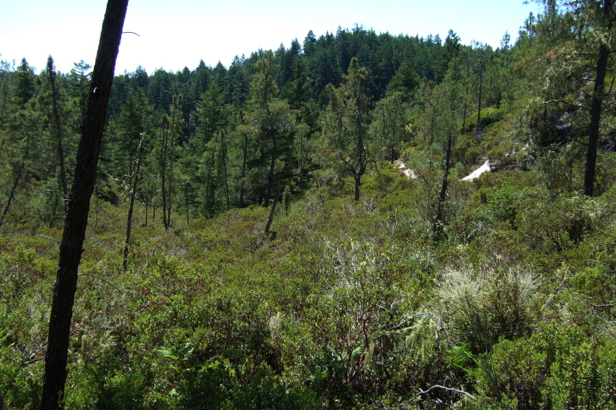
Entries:
<svg viewBox="0 0 616 410">
<path fill-rule="evenodd" d="M 303 44 L 295 39 L 289 49 L 285 49 L 281 44 L 281 47 L 274 51 L 274 64 L 279 66 L 274 79 L 279 90 L 283 92 L 283 97 L 289 99 L 290 103 L 296 103 L 297 101 L 292 100 L 298 96 L 291 96 L 286 90 L 292 81 L 305 75 L 311 93 L 308 97 L 299 97 L 311 99 L 323 106 L 329 100 L 325 91 L 326 85 L 339 85 L 351 58 L 357 57 L 361 66 L 370 73 L 366 81 L 370 96 L 374 101 L 378 101 L 385 95 L 387 86 L 396 73 L 398 77 L 407 79 L 409 76 L 415 77 L 415 71 L 418 78 L 408 81 L 419 81 L 420 78 L 441 81 L 450 60 L 461 48 L 460 38 L 453 31 L 450 31 L 444 41 L 438 35 L 426 38 L 392 36 L 376 34 L 361 27 L 355 27 L 352 31 L 339 28 L 335 35 L 327 33 L 319 38 L 309 31 Z M 188 116 L 188 112 L 194 110 L 201 93 L 212 83 L 222 88 L 224 103 L 239 110 L 248 100 L 251 75 L 255 74 L 258 59 L 259 53 L 255 51 L 248 58 L 235 57 L 228 68 L 220 63 L 215 67 L 205 66 L 201 61 L 192 71 L 188 67 L 177 73 L 159 69 L 149 75 L 139 67 L 134 73 L 117 76 L 114 80 L 110 114 L 119 115 L 129 92 L 142 88 L 154 110 L 168 110 L 172 95 L 182 94 L 185 100 L 183 111 Z M 418 82 L 408 86 L 415 88 Z M 197 126 L 198 123 L 194 123 L 192 128 L 185 129 L 187 136 L 194 132 Z"/>
</svg>

